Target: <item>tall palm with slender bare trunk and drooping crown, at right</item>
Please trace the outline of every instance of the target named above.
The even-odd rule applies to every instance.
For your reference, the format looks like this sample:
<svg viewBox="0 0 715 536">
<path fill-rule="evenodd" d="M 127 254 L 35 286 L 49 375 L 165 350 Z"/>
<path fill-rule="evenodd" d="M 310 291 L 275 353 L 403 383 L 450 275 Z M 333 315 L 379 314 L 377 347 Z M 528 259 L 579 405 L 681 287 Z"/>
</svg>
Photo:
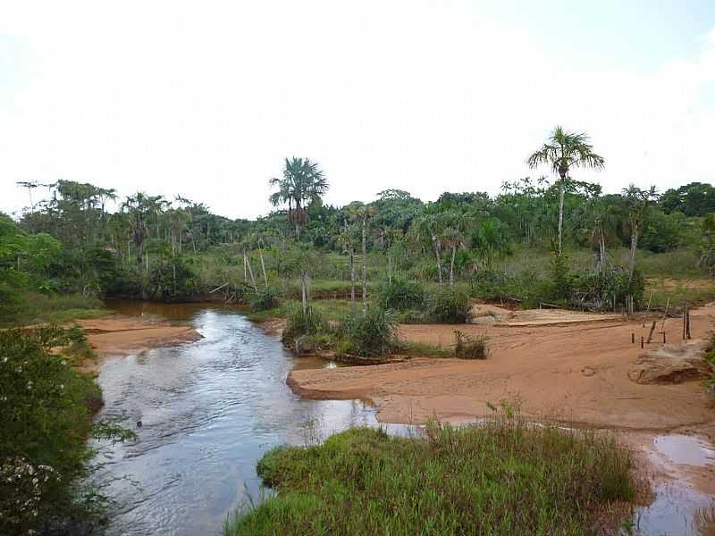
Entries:
<svg viewBox="0 0 715 536">
<path fill-rule="evenodd" d="M 564 222 L 564 188 L 570 178 L 571 168 L 591 168 L 601 170 L 606 161 L 602 156 L 593 153 L 593 146 L 588 143 L 585 132 L 576 133 L 557 126 L 543 147 L 526 160 L 534 169 L 545 163 L 551 166 L 553 172 L 559 174 L 559 256 Z"/>
</svg>

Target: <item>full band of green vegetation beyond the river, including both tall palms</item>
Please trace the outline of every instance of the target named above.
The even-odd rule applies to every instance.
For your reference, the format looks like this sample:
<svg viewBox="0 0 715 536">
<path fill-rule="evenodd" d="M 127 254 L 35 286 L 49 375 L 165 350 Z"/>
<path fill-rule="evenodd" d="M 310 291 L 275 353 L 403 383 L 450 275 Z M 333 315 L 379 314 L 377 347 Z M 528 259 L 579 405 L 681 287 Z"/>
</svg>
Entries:
<svg viewBox="0 0 715 536">
<path fill-rule="evenodd" d="M 263 317 L 282 300 L 305 308 L 349 299 L 352 309 L 362 301 L 400 311 L 405 322 L 464 322 L 463 293 L 588 310 L 619 310 L 631 299 L 644 307 L 656 287 L 659 307 L 715 297 L 715 286 L 653 282 L 713 272 L 711 185 L 604 194 L 572 174 L 601 169 L 605 158 L 584 133 L 561 128 L 528 163 L 556 180 L 508 181 L 495 197 L 444 192 L 433 203 L 386 189 L 337 207 L 323 203 L 328 181 L 318 163 L 289 158 L 271 180 L 276 210 L 256 221 L 229 220 L 181 196 L 120 198 L 59 180 L 18 222 L 2 219 L 3 320 L 32 316 L 20 310 L 25 292 L 223 299 Z"/>
</svg>

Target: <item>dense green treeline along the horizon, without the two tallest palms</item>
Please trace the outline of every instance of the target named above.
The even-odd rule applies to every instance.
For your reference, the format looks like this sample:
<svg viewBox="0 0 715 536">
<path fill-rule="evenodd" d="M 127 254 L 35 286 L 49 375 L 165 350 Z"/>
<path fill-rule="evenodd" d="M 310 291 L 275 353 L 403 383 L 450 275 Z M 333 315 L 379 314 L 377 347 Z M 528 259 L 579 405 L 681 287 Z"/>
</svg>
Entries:
<svg viewBox="0 0 715 536">
<path fill-rule="evenodd" d="M 116 202 L 112 212 L 108 201 Z M 715 188 L 708 184 L 659 197 L 635 187 L 603 195 L 598 184 L 569 180 L 563 240 L 567 250 L 593 249 L 595 264 L 607 262 L 603 250 L 617 247 L 700 247 L 707 220 L 702 216 L 714 210 Z M 237 258 L 226 262 L 245 268 L 245 252 L 264 250 L 268 269 L 281 272 L 270 252 L 296 244 L 353 260 L 364 249 L 381 253 L 388 270 L 419 265 L 415 273 L 425 280 L 448 283 L 492 270 L 514 247 L 553 249 L 558 218 L 559 188 L 544 178 L 505 183 L 496 197 L 445 192 L 433 203 L 396 189 L 371 203 L 342 207 L 324 205 L 315 195 L 307 205 L 256 221 L 230 220 L 183 197 L 170 201 L 139 192 L 120 199 L 114 190 L 61 180 L 18 224 L 0 221 L 0 291 L 5 305 L 13 284 L 40 292 L 181 298 L 206 290 L 196 277 L 201 255 L 232 252 Z M 256 259 L 252 270 L 258 272 L 258 265 Z"/>
</svg>

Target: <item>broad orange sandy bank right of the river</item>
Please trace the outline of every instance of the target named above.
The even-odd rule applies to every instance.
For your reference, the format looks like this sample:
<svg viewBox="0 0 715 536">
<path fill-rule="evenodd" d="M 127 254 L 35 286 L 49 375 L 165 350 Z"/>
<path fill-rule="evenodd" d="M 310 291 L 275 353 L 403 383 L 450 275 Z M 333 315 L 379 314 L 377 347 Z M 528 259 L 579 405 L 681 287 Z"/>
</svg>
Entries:
<svg viewBox="0 0 715 536">
<path fill-rule="evenodd" d="M 694 338 L 707 337 L 715 307 L 693 312 Z M 601 320 L 594 318 L 595 320 Z M 650 322 L 649 322 L 650 323 Z M 309 398 L 363 398 L 383 422 L 422 423 L 430 415 L 458 422 L 487 415 L 487 402 L 519 401 L 522 413 L 613 428 L 669 430 L 715 421 L 701 382 L 639 385 L 627 373 L 642 353 L 641 322 L 540 326 L 402 325 L 400 336 L 450 344 L 458 328 L 490 337 L 485 361 L 412 359 L 385 364 L 297 370 L 288 383 Z M 669 342 L 682 338 L 682 321 L 666 322 Z M 660 320 L 655 339 L 662 342 Z M 631 344 L 635 333 L 636 344 Z M 658 343 L 650 345 L 651 348 Z"/>
</svg>

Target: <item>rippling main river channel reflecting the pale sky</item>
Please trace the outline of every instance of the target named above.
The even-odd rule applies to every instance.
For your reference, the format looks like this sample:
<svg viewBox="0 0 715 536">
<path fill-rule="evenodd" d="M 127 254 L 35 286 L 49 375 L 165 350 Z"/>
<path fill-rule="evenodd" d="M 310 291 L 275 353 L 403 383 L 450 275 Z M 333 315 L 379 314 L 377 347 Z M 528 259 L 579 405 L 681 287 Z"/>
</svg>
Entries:
<svg viewBox="0 0 715 536">
<path fill-rule="evenodd" d="M 124 302 L 116 309 L 136 314 L 136 307 Z M 99 418 L 120 418 L 139 436 L 99 446 L 97 461 L 105 465 L 97 479 L 117 501 L 109 534 L 220 533 L 247 494 L 257 497 L 256 463 L 267 449 L 377 424 L 361 402 L 291 393 L 285 378 L 293 357 L 235 310 L 141 307 L 143 314 L 188 320 L 204 339 L 109 358 L 101 369 Z"/>
</svg>

